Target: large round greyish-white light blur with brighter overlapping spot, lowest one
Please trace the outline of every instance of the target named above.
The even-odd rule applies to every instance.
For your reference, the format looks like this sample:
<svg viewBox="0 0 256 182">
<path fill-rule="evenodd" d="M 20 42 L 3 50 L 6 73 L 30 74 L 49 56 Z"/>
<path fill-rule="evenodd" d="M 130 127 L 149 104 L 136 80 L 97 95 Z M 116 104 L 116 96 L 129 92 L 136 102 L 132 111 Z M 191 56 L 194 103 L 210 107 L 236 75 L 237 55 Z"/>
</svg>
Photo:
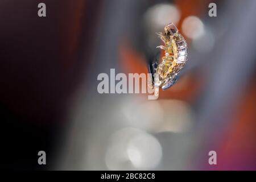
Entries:
<svg viewBox="0 0 256 182">
<path fill-rule="evenodd" d="M 146 131 L 127 127 L 115 132 L 106 151 L 105 162 L 114 169 L 154 169 L 162 158 L 158 140 Z"/>
</svg>

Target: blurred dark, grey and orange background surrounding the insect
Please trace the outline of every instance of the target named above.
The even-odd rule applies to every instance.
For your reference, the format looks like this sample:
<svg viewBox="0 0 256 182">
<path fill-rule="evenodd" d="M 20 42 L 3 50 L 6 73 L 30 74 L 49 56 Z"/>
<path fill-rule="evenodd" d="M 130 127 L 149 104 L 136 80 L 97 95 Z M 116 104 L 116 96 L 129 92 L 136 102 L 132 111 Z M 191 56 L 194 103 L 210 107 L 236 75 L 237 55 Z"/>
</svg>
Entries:
<svg viewBox="0 0 256 182">
<path fill-rule="evenodd" d="M 217 17 L 208 15 L 212 2 Z M 255 8 L 253 0 L 1 0 L 1 168 L 255 170 Z M 161 44 L 155 32 L 170 22 L 189 46 L 172 88 L 158 100 L 97 92 L 110 68 L 147 73 Z"/>
</svg>

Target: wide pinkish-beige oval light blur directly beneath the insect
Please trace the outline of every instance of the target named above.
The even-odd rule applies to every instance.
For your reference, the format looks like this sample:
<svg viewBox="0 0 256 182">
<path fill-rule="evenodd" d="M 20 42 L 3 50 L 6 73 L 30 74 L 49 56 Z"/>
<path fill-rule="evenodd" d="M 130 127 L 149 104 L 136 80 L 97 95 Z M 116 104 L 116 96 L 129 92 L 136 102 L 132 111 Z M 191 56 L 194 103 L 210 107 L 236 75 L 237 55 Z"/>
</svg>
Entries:
<svg viewBox="0 0 256 182">
<path fill-rule="evenodd" d="M 122 112 L 127 125 L 155 133 L 185 132 L 193 123 L 191 106 L 179 100 L 127 101 Z"/>
</svg>

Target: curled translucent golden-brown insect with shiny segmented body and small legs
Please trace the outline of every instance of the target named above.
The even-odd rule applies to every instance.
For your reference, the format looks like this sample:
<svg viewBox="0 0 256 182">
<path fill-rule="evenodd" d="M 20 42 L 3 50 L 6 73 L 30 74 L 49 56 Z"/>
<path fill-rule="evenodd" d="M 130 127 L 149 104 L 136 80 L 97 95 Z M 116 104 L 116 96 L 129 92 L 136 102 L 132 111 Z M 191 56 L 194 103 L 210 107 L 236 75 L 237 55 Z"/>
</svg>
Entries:
<svg viewBox="0 0 256 182">
<path fill-rule="evenodd" d="M 185 39 L 173 23 L 164 27 L 164 34 L 160 32 L 158 35 L 163 40 L 164 46 L 157 48 L 164 49 L 164 56 L 156 68 L 156 73 L 159 74 L 157 85 L 162 89 L 167 89 L 175 84 L 177 74 L 187 62 L 188 48 Z"/>
</svg>

